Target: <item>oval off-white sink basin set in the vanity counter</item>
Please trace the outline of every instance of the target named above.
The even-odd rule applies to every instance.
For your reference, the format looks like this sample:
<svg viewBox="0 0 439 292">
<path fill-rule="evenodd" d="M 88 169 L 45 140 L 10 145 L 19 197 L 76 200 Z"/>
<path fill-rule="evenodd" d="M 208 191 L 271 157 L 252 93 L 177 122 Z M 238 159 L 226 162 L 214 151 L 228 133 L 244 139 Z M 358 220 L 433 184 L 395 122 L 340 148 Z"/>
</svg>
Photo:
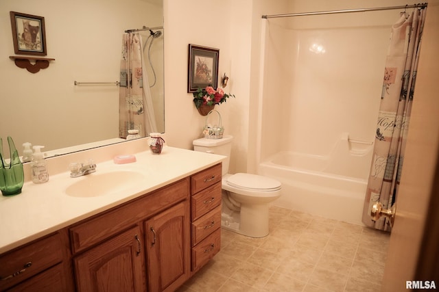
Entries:
<svg viewBox="0 0 439 292">
<path fill-rule="evenodd" d="M 145 176 L 139 172 L 117 171 L 117 172 L 94 172 L 72 178 L 72 183 L 66 189 L 66 194 L 73 197 L 97 197 L 114 194 L 118 191 L 130 188 L 133 184 L 141 182 Z"/>
</svg>

